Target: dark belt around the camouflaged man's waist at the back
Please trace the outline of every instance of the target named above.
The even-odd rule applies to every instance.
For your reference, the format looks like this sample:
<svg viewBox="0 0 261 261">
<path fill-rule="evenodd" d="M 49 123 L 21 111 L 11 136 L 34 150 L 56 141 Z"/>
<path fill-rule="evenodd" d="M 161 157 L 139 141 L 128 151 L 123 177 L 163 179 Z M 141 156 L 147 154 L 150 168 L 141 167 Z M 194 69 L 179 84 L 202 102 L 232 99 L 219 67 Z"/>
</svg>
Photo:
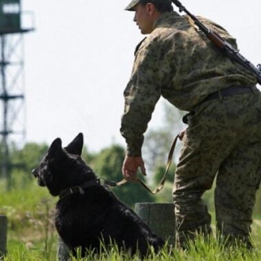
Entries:
<svg viewBox="0 0 261 261">
<path fill-rule="evenodd" d="M 250 93 L 253 91 L 253 87 L 242 87 L 242 86 L 235 86 L 235 87 L 227 87 L 220 91 L 216 91 L 214 93 L 210 93 L 207 98 L 205 98 L 202 102 L 206 102 L 207 100 L 214 100 L 218 98 L 224 98 L 231 95 L 241 94 L 241 93 Z"/>
</svg>

